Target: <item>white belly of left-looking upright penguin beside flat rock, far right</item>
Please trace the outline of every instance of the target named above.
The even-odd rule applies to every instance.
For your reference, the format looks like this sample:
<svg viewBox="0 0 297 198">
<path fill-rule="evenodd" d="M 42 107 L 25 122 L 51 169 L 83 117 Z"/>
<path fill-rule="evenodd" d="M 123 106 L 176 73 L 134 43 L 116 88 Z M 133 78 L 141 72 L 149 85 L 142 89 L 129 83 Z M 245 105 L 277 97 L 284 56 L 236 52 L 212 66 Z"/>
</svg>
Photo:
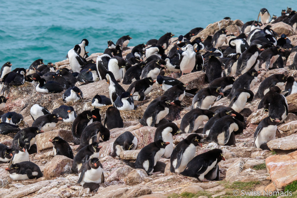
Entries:
<svg viewBox="0 0 297 198">
<path fill-rule="evenodd" d="M 268 125 L 264 127 L 258 134 L 257 139 L 255 141 L 255 145 L 257 148 L 260 148 L 261 144 L 267 143 L 270 140 L 275 139 L 275 132 L 277 130 L 276 125 Z"/>
</svg>

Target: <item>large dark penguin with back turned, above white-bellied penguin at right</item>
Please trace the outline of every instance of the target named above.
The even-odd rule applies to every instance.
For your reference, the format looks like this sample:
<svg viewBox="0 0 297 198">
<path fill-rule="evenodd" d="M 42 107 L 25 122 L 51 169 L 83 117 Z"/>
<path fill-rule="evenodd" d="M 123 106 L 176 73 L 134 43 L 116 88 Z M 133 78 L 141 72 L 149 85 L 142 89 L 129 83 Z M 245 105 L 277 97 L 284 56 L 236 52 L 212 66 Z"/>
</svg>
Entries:
<svg viewBox="0 0 297 198">
<path fill-rule="evenodd" d="M 277 86 L 270 88 L 258 105 L 258 109 L 268 110 L 269 116 L 279 118 L 280 123 L 284 122 L 288 115 L 288 103 L 284 95 L 280 94 Z"/>
</svg>

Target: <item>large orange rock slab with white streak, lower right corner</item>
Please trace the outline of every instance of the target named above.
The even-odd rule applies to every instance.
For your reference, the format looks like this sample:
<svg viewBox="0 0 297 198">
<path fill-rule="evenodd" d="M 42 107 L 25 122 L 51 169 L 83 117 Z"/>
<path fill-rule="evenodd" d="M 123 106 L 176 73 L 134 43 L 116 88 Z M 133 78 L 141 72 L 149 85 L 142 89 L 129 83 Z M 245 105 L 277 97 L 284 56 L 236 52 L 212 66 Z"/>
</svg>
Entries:
<svg viewBox="0 0 297 198">
<path fill-rule="evenodd" d="M 297 180 L 297 151 L 287 155 L 273 155 L 265 161 L 271 181 L 277 190 Z"/>
</svg>

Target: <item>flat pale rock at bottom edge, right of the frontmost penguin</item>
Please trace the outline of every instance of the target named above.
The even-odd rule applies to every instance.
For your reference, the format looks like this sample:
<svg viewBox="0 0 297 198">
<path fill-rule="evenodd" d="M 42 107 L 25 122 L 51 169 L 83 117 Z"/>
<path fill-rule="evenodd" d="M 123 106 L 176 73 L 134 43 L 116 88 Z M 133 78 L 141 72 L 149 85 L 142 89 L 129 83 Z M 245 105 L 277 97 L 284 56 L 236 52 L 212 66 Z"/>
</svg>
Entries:
<svg viewBox="0 0 297 198">
<path fill-rule="evenodd" d="M 151 194 L 151 189 L 147 186 L 130 187 L 125 184 L 108 186 L 95 194 L 94 198 L 117 198 L 117 197 L 140 197 L 141 195 Z"/>
</svg>

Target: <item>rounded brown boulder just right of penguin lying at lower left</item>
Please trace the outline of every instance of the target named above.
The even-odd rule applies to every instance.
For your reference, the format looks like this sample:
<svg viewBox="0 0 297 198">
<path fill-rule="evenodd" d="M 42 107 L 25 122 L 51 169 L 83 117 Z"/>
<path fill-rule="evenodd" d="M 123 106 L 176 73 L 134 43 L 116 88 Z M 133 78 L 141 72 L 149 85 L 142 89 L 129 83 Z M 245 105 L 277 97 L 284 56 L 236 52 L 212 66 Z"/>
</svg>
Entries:
<svg viewBox="0 0 297 198">
<path fill-rule="evenodd" d="M 44 177 L 51 179 L 61 175 L 61 172 L 68 171 L 71 169 L 73 159 L 70 159 L 63 155 L 56 155 L 49 163 L 45 165 Z"/>
</svg>

